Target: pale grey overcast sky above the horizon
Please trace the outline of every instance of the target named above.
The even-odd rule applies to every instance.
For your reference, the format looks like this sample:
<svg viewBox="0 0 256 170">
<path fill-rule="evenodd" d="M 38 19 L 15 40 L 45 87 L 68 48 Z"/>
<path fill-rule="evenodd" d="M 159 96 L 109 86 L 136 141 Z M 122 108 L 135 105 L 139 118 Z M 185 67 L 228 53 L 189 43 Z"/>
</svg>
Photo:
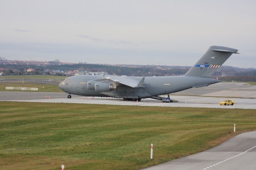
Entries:
<svg viewBox="0 0 256 170">
<path fill-rule="evenodd" d="M 256 0 L 0 0 L 8 60 L 192 66 L 211 45 L 256 68 Z"/>
</svg>

